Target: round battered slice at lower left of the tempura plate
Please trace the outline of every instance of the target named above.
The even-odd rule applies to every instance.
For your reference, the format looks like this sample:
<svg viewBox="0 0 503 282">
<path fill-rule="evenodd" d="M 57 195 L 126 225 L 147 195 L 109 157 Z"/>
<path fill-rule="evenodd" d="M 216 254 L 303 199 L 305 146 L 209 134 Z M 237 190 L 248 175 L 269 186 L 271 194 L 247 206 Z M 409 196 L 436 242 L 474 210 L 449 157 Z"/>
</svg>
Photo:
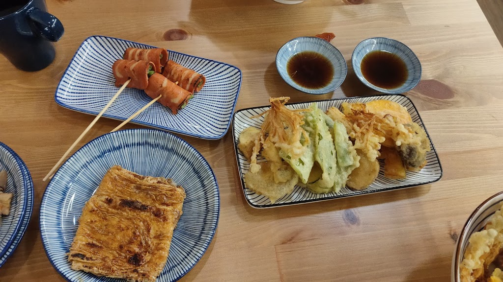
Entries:
<svg viewBox="0 0 503 282">
<path fill-rule="evenodd" d="M 275 203 L 283 196 L 292 193 L 295 184 L 299 181 L 299 176 L 290 166 L 284 166 L 279 169 L 277 174 L 278 179 L 287 180 L 286 182 L 275 182 L 275 174 L 271 171 L 269 162 L 258 163 L 260 170 L 257 173 L 248 171 L 244 175 L 246 187 L 253 190 L 259 195 L 264 195 Z"/>
</svg>

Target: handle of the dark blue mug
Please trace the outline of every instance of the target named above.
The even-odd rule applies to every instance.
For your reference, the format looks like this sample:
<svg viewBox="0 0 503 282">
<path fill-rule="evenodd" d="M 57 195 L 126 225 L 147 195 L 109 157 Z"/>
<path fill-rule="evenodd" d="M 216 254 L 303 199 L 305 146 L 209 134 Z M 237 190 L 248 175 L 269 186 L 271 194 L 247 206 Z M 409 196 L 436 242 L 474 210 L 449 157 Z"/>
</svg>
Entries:
<svg viewBox="0 0 503 282">
<path fill-rule="evenodd" d="M 63 25 L 53 15 L 35 8 L 29 17 L 32 31 L 43 39 L 56 42 L 63 36 Z"/>
</svg>

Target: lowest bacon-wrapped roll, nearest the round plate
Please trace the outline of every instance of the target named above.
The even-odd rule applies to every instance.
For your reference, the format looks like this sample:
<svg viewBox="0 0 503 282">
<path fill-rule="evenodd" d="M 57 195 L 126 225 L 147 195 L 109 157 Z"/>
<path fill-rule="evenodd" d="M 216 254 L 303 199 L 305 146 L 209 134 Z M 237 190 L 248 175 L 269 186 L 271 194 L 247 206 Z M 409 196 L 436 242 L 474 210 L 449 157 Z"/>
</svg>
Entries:
<svg viewBox="0 0 503 282">
<path fill-rule="evenodd" d="M 177 114 L 179 109 L 185 107 L 189 99 L 192 98 L 191 92 L 183 89 L 175 82 L 170 81 L 158 73 L 152 74 L 148 79 L 148 86 L 145 89 L 145 93 L 152 99 L 162 95 L 157 101 L 169 107 L 174 114 Z"/>
</svg>

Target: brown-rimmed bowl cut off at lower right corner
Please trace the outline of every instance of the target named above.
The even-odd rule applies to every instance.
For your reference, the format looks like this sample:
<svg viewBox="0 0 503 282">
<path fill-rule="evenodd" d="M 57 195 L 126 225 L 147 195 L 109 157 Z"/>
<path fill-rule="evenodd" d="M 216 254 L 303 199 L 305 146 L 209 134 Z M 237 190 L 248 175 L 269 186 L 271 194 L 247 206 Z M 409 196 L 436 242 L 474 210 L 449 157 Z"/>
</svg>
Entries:
<svg viewBox="0 0 503 282">
<path fill-rule="evenodd" d="M 489 217 L 501 207 L 501 201 L 503 201 L 503 191 L 483 201 L 468 217 L 463 229 L 461 229 L 456 249 L 454 250 L 454 256 L 452 257 L 451 282 L 461 281 L 459 266 L 461 265 L 461 261 L 463 261 L 470 235 L 484 228 L 485 224 L 489 221 Z"/>
</svg>

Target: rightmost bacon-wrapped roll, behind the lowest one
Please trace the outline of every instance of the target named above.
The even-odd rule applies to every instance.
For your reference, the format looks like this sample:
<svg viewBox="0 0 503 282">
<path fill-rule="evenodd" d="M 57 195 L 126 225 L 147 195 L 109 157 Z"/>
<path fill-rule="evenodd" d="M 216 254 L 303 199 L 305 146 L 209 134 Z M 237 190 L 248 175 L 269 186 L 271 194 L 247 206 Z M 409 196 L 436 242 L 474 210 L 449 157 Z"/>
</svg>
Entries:
<svg viewBox="0 0 503 282">
<path fill-rule="evenodd" d="M 206 82 L 204 75 L 179 65 L 172 60 L 167 61 L 162 75 L 173 82 L 178 81 L 180 87 L 191 93 L 201 91 Z"/>
</svg>

